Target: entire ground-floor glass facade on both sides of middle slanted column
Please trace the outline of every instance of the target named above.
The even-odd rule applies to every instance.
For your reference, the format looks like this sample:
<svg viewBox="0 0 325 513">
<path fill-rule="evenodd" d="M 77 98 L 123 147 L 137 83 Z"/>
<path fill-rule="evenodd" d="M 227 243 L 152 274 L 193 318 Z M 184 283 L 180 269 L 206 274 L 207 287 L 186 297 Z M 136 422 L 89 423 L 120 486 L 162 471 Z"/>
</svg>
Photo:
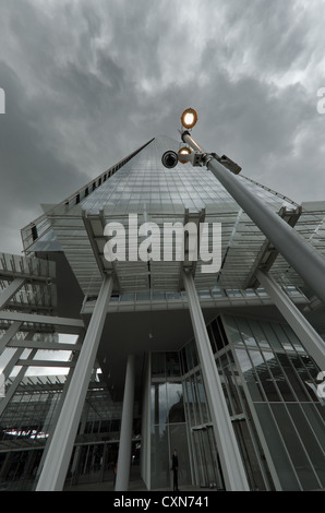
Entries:
<svg viewBox="0 0 325 513">
<path fill-rule="evenodd" d="M 251 490 L 323 488 L 325 409 L 315 394 L 320 369 L 292 330 L 222 315 L 207 331 Z M 181 441 L 173 443 L 171 433 L 178 429 L 189 441 L 189 482 L 222 489 L 195 342 L 172 354 L 172 370 L 167 355 L 153 355 L 153 485 L 170 486 L 170 454 Z"/>
</svg>

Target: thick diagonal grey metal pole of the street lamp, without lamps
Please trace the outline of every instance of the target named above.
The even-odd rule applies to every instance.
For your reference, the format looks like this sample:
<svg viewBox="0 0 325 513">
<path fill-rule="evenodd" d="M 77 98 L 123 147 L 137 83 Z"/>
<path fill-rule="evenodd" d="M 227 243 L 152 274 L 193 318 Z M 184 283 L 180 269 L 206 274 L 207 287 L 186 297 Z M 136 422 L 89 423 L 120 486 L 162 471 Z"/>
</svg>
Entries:
<svg viewBox="0 0 325 513">
<path fill-rule="evenodd" d="M 182 139 L 190 146 L 202 152 L 202 148 L 188 132 L 182 134 Z M 210 158 L 206 167 L 325 303 L 325 259 L 322 254 L 260 198 L 244 187 L 240 179 L 226 169 L 216 158 Z"/>
</svg>

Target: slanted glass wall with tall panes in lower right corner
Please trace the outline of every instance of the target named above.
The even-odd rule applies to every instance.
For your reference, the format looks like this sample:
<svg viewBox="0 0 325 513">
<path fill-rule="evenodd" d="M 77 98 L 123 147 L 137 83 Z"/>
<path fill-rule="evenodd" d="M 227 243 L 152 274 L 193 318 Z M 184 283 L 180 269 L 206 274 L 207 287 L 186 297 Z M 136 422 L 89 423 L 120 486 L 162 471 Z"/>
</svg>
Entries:
<svg viewBox="0 0 325 513">
<path fill-rule="evenodd" d="M 288 325 L 231 315 L 225 321 L 281 488 L 323 488 L 325 410 L 314 392 L 320 369 Z M 226 394 L 236 408 L 230 387 Z"/>
</svg>

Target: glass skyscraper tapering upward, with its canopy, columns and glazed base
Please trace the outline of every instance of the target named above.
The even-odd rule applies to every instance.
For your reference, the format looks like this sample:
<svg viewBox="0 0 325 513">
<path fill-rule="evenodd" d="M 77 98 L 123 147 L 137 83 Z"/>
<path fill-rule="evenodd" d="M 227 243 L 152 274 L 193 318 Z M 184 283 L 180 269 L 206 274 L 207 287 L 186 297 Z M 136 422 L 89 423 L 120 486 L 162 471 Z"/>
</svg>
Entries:
<svg viewBox="0 0 325 513">
<path fill-rule="evenodd" d="M 22 230 L 26 261 L 56 265 L 52 308 L 41 312 L 56 322 L 49 335 L 44 318 L 34 317 L 44 333 L 37 347 L 48 348 L 48 337 L 55 344 L 55 332 L 69 327 L 76 350 L 67 346 L 67 380 L 40 379 L 39 401 L 37 383 L 23 381 L 4 399 L 3 481 L 14 480 L 9 440 L 15 440 L 25 452 L 38 451 L 24 456 L 20 475 L 39 490 L 103 481 L 117 462 L 116 490 L 128 489 L 131 463 L 147 490 L 168 489 L 174 449 L 180 488 L 325 487 L 324 305 L 212 172 L 162 166 L 162 154 L 179 147 L 153 139 L 58 205 L 45 205 Z M 299 205 L 242 175 L 236 179 L 325 254 L 325 202 Z M 159 260 L 109 262 L 108 224 L 123 227 L 129 252 L 145 239 L 131 237 L 130 215 L 160 234 L 166 223 L 219 224 L 220 269 L 203 273 L 201 258 L 166 261 L 162 246 Z M 10 272 L 4 291 L 19 278 L 20 271 Z M 3 337 L 21 322 L 14 336 L 25 341 L 33 319 L 9 315 L 15 298 L 1 310 Z M 9 347 L 15 345 L 7 336 Z M 5 378 L 9 396 L 15 380 Z M 29 403 L 43 406 L 37 428 L 20 420 Z"/>
</svg>

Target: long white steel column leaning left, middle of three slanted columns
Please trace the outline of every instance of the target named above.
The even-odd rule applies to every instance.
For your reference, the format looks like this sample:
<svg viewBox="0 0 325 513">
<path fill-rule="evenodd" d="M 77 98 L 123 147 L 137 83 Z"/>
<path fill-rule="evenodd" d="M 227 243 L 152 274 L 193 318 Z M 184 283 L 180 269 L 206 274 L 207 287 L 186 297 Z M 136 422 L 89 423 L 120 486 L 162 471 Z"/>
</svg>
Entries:
<svg viewBox="0 0 325 513">
<path fill-rule="evenodd" d="M 189 309 L 226 489 L 231 491 L 249 491 L 250 488 L 245 470 L 222 392 L 221 382 L 192 274 L 190 272 L 184 272 L 183 281 L 188 293 Z"/>
</svg>

